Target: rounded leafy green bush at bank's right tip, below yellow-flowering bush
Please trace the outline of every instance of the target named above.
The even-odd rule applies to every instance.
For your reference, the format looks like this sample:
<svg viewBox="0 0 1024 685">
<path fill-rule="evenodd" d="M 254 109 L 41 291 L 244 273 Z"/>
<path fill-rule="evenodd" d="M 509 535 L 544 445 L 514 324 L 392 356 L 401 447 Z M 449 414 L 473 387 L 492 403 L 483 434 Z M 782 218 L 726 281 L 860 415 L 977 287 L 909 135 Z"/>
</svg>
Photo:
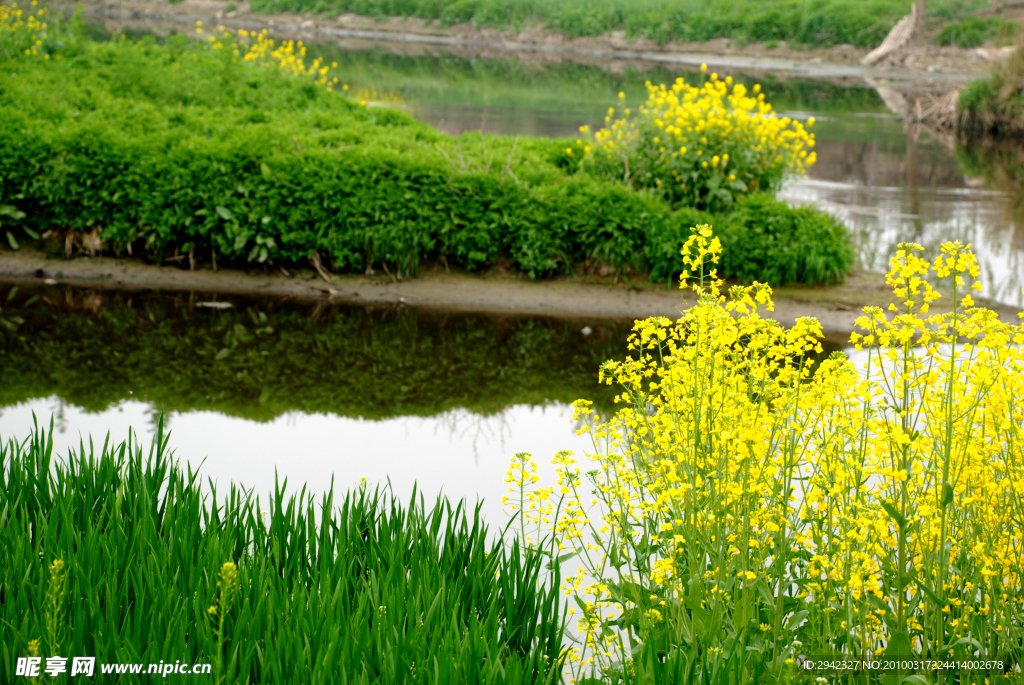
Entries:
<svg viewBox="0 0 1024 685">
<path fill-rule="evenodd" d="M 721 271 L 745 284 L 843 281 L 853 265 L 846 228 L 810 207 L 791 207 L 769 194 L 741 199 L 720 229 Z"/>
</svg>

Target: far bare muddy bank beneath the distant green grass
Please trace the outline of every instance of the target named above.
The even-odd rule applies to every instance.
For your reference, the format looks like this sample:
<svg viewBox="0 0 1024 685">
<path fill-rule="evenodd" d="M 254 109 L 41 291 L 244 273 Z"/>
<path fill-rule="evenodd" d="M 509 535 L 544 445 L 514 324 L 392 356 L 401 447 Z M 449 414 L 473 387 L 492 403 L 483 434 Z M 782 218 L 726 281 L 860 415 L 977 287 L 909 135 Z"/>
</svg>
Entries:
<svg viewBox="0 0 1024 685">
<path fill-rule="evenodd" d="M 56 5 L 60 7 L 60 5 Z M 707 43 L 658 44 L 644 38 L 626 38 L 623 32 L 594 38 L 567 38 L 541 28 L 520 32 L 479 29 L 469 25 L 441 27 L 436 22 L 392 17 L 375 20 L 354 14 L 261 14 L 240 3 L 234 11 L 216 0 L 101 0 L 82 3 L 86 17 L 109 30 L 147 30 L 157 34 L 190 32 L 197 20 L 205 26 L 229 29 L 267 28 L 279 38 L 331 42 L 351 49 L 386 47 L 420 54 L 444 51 L 460 56 L 507 58 L 528 62 L 579 62 L 625 69 L 631 63 L 670 63 L 710 68 L 736 73 L 767 73 L 804 78 L 860 81 L 864 78 L 912 81 L 932 88 L 978 78 L 990 58 L 978 50 L 934 45 L 923 37 L 905 54 L 876 67 L 860 59 L 866 49 L 853 45 L 794 49 L 784 41 L 769 47 L 762 43 L 738 45 L 729 39 Z M 70 9 L 71 5 L 65 6 Z"/>
</svg>

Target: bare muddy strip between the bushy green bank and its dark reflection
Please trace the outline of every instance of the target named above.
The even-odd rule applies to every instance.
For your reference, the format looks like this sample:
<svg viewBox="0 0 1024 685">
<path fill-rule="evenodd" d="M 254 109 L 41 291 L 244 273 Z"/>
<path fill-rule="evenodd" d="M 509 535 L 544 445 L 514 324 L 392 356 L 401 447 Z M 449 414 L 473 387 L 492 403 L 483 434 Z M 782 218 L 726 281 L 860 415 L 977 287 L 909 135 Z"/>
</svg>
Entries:
<svg viewBox="0 0 1024 685">
<path fill-rule="evenodd" d="M 65 284 L 93 290 L 163 290 L 211 296 L 280 297 L 346 304 L 415 306 L 449 311 L 624 319 L 678 316 L 684 308 L 678 290 L 649 284 L 612 284 L 610 279 L 565 277 L 528 281 L 514 275 L 468 275 L 428 270 L 398 283 L 387 276 L 335 275 L 325 282 L 310 269 L 283 272 L 157 266 L 114 257 L 50 258 L 33 250 L 0 252 L 0 283 Z M 836 288 L 780 288 L 774 318 L 792 326 L 799 316 L 817 318 L 830 340 L 842 342 L 854 330 L 864 305 L 887 306 L 891 293 L 881 274 L 854 273 Z M 941 304 L 943 300 L 939 301 Z M 1011 307 L 984 303 L 1008 323 L 1018 323 Z M 941 308 L 933 307 L 933 311 Z"/>
</svg>

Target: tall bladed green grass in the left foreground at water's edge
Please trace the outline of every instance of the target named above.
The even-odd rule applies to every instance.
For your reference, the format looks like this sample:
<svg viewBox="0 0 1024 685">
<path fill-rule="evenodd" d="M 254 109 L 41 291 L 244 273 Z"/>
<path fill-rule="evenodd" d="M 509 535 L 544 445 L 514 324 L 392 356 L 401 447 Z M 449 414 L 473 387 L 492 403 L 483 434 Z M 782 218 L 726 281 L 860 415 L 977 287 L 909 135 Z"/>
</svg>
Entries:
<svg viewBox="0 0 1024 685">
<path fill-rule="evenodd" d="M 35 653 L 94 656 L 95 682 L 176 659 L 218 684 L 560 682 L 557 576 L 478 508 L 204 495 L 162 427 L 147 457 L 90 443 L 58 462 L 37 430 L 0 465 L 5 678 Z"/>
</svg>

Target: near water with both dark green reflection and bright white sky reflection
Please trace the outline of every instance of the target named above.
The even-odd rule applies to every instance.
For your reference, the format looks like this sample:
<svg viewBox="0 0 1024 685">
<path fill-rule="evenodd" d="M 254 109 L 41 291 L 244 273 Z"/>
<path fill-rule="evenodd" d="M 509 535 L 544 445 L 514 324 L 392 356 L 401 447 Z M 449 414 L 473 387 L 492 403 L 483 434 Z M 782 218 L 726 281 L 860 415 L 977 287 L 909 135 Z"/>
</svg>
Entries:
<svg viewBox="0 0 1024 685">
<path fill-rule="evenodd" d="M 630 323 L 310 307 L 270 299 L 0 288 L 0 439 L 53 417 L 55 448 L 148 441 L 161 414 L 178 459 L 226 485 L 314 493 L 332 479 L 484 498 L 504 519 L 509 459 L 581 454 L 569 402 L 597 383 Z M 588 329 L 584 335 L 583 329 Z M 553 476 L 553 472 L 548 474 Z"/>
</svg>

